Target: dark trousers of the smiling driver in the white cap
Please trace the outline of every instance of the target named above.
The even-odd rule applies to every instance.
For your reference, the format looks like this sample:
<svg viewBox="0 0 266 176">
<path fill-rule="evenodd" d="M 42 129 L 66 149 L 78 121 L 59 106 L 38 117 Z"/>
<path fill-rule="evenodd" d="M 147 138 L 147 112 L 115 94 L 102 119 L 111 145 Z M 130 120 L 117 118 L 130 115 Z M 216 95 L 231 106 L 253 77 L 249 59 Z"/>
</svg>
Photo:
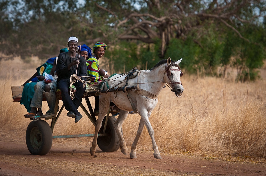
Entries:
<svg viewBox="0 0 266 176">
<path fill-rule="evenodd" d="M 58 89 L 61 91 L 62 100 L 65 105 L 65 109 L 69 112 L 74 112 L 74 114 L 79 115 L 78 107 L 81 104 L 82 96 L 85 92 L 86 86 L 83 87 L 83 83 L 78 81 L 73 84 L 77 89 L 75 92 L 75 98 L 72 100 L 68 88 L 70 86 L 69 79 L 60 79 L 57 81 Z"/>
</svg>

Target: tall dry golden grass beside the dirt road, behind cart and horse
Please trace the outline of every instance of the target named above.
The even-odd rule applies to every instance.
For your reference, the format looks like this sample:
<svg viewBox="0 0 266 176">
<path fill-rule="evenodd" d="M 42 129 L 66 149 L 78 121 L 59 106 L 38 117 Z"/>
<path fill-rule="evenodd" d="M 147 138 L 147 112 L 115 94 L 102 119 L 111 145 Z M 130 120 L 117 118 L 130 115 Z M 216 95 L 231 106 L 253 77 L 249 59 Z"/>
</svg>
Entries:
<svg viewBox="0 0 266 176">
<path fill-rule="evenodd" d="M 14 64 L 15 63 L 15 64 Z M 0 140 L 25 140 L 25 131 L 30 120 L 23 105 L 12 102 L 11 86 L 21 85 L 39 66 L 41 61 L 29 67 L 19 58 L 0 62 Z M 182 63 L 180 64 L 182 67 Z M 233 78 L 199 77 L 184 73 L 182 97 L 178 98 L 164 88 L 158 104 L 150 116 L 159 150 L 189 151 L 215 155 L 248 155 L 265 157 L 266 151 L 266 80 L 252 83 L 235 83 Z M 94 106 L 94 97 L 90 97 Z M 86 102 L 82 102 L 86 105 Z M 59 107 L 62 102 L 59 102 Z M 43 102 L 43 111 L 47 110 Z M 63 110 L 53 135 L 94 133 L 94 126 L 84 116 L 74 123 Z M 129 115 L 123 124 L 123 135 L 130 147 L 138 128 L 140 116 Z M 49 124 L 51 120 L 47 121 Z M 53 145 L 91 145 L 92 138 L 54 139 Z M 138 149 L 152 150 L 150 136 L 146 130 L 140 138 Z"/>
</svg>

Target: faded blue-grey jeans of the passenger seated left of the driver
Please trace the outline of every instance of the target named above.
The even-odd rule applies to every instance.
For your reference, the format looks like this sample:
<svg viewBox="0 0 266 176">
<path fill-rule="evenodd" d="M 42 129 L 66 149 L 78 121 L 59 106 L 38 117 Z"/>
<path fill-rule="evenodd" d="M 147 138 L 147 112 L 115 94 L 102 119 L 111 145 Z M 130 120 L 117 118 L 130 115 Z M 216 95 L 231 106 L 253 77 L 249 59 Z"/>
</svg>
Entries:
<svg viewBox="0 0 266 176">
<path fill-rule="evenodd" d="M 31 100 L 30 107 L 41 108 L 42 101 L 43 101 L 43 93 L 44 93 L 44 96 L 50 108 L 49 111 L 53 112 L 54 107 L 55 107 L 55 99 L 56 99 L 55 91 L 57 90 L 57 81 L 47 84 L 51 87 L 50 92 L 43 91 L 45 85 L 46 83 L 44 81 L 40 81 L 40 82 L 37 82 L 37 84 L 34 86 L 35 92 Z"/>
</svg>

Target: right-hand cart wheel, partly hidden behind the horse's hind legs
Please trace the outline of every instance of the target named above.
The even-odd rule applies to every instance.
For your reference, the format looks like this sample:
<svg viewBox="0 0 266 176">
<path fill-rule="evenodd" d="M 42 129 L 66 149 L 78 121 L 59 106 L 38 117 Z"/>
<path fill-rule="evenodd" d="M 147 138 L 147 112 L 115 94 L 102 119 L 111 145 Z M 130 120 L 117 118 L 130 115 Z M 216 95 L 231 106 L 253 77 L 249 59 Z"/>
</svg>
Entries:
<svg viewBox="0 0 266 176">
<path fill-rule="evenodd" d="M 104 120 L 102 121 L 102 127 L 100 129 L 100 132 L 104 129 L 105 119 L 106 117 L 104 117 Z M 103 152 L 114 152 L 119 149 L 120 142 L 118 139 L 118 135 L 116 134 L 116 130 L 114 129 L 115 122 L 116 118 L 113 116 L 109 116 L 105 130 L 108 135 L 98 136 L 97 144 Z"/>
</svg>

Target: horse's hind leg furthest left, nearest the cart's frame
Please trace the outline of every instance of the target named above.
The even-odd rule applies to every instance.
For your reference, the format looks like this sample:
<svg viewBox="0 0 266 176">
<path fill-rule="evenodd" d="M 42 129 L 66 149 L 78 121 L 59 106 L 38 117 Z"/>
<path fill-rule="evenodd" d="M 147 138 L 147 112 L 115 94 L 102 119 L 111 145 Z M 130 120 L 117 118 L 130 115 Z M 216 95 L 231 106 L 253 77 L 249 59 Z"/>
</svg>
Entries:
<svg viewBox="0 0 266 176">
<path fill-rule="evenodd" d="M 95 133 L 94 133 L 94 138 L 92 141 L 92 146 L 90 148 L 90 154 L 92 156 L 95 155 L 95 151 L 96 151 L 96 146 L 97 146 L 97 139 L 98 139 L 98 133 L 100 128 L 102 127 L 102 121 L 104 120 L 104 116 L 108 111 L 109 108 L 109 103 L 110 101 L 103 101 L 104 97 L 100 97 L 100 110 L 99 110 L 99 115 L 98 115 L 98 119 L 96 120 L 96 126 L 95 126 Z"/>
</svg>

